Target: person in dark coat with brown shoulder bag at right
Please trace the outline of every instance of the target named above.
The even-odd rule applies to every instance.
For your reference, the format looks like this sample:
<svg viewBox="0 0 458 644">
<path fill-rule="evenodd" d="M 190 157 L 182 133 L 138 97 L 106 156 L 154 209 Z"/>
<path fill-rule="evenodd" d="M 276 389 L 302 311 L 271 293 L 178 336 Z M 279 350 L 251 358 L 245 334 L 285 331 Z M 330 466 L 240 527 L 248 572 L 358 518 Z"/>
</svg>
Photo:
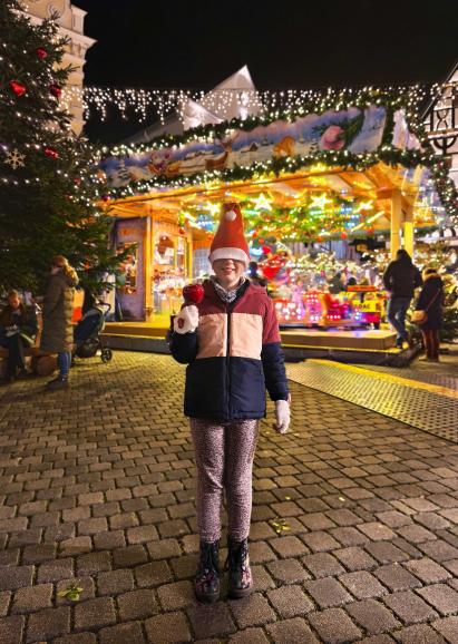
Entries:
<svg viewBox="0 0 458 644">
<path fill-rule="evenodd" d="M 420 325 L 426 357 L 422 360 L 439 362 L 439 330 L 442 326 L 444 282 L 435 269 L 425 269 L 423 286 L 416 311 L 426 311 L 427 321 Z"/>
</svg>

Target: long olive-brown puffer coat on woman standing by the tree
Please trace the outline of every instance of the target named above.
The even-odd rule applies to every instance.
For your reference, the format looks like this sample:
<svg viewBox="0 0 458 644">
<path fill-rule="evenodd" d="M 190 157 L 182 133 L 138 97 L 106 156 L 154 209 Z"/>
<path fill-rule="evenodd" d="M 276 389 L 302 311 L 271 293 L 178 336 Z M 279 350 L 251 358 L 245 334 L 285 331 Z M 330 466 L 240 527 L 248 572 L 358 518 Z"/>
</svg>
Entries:
<svg viewBox="0 0 458 644">
<path fill-rule="evenodd" d="M 75 272 L 70 274 L 58 271 L 50 276 L 43 300 L 43 328 L 41 332 L 40 349 L 49 353 L 70 351 L 74 342 L 74 315 L 75 286 L 78 277 Z"/>
</svg>

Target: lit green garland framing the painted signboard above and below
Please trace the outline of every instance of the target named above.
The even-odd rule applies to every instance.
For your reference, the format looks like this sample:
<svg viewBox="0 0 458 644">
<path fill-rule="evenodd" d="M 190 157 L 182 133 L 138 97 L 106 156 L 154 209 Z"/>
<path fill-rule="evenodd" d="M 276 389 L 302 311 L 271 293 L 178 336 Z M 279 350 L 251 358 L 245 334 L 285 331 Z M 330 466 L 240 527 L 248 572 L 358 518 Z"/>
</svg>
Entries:
<svg viewBox="0 0 458 644">
<path fill-rule="evenodd" d="M 111 188 L 110 197 L 125 198 L 128 196 L 145 194 L 156 188 L 189 187 L 214 180 L 231 183 L 236 180 L 250 180 L 256 176 L 263 175 L 279 176 L 283 172 L 294 173 L 318 163 L 323 164 L 327 167 L 341 166 L 345 169 L 361 172 L 381 160 L 393 167 L 398 165 L 406 168 L 411 168 L 417 165 L 428 167 L 431 172 L 435 187 L 447 214 L 450 216 L 452 223 L 458 225 L 458 191 L 448 175 L 445 159 L 435 154 L 425 127 L 418 119 L 418 105 L 420 99 L 421 92 L 419 88 L 400 88 L 390 91 L 370 88 L 360 92 L 354 92 L 351 89 L 341 91 L 330 90 L 324 95 L 316 95 L 313 99 L 303 103 L 292 110 L 274 111 L 256 117 L 250 117 L 245 120 L 233 119 L 228 123 L 226 121 L 218 125 L 199 126 L 187 130 L 183 135 L 160 137 L 149 144 L 140 144 L 131 147 L 118 146 L 110 150 L 104 148 L 103 154 L 105 157 L 119 157 L 126 154 L 142 154 L 164 147 L 182 146 L 199 138 L 223 138 L 230 134 L 231 129 L 249 131 L 260 125 L 269 125 L 274 120 L 293 121 L 299 116 L 304 116 L 311 113 L 322 114 L 328 109 L 339 111 L 349 107 L 366 108 L 370 105 L 378 105 L 384 107 L 387 110 L 387 123 L 383 129 L 382 142 L 379 148 L 372 153 L 354 155 L 347 149 L 338 152 L 320 150 L 309 156 L 298 155 L 294 157 L 272 158 L 264 163 L 255 162 L 250 167 L 235 165 L 233 168 L 211 170 L 195 175 L 178 175 L 174 177 L 157 176 L 153 179 L 129 182 L 126 186 Z M 397 109 L 405 110 L 409 130 L 419 139 L 420 145 L 422 146 L 421 150 L 402 150 L 391 145 L 394 128 L 394 111 Z"/>
</svg>

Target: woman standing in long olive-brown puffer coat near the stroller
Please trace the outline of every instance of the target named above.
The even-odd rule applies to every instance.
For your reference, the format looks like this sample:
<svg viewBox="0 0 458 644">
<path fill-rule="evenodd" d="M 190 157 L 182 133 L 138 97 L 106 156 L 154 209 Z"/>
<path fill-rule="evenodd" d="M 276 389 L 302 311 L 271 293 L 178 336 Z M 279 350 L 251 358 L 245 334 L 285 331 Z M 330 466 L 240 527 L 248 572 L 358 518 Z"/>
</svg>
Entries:
<svg viewBox="0 0 458 644">
<path fill-rule="evenodd" d="M 43 300 L 43 329 L 40 349 L 47 353 L 57 353 L 59 375 L 48 382 L 48 390 L 67 389 L 74 343 L 75 286 L 78 276 L 64 255 L 56 255 L 51 262 Z"/>
</svg>

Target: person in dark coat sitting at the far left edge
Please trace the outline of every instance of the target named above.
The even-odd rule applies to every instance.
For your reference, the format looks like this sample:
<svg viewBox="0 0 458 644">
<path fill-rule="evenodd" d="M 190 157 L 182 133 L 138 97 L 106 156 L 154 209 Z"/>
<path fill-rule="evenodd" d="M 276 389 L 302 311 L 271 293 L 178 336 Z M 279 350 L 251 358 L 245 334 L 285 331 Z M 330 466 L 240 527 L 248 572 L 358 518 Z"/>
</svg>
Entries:
<svg viewBox="0 0 458 644">
<path fill-rule="evenodd" d="M 33 344 L 37 333 L 36 310 L 29 311 L 17 291 L 8 293 L 8 304 L 0 312 L 0 347 L 8 349 L 4 381 L 27 375 L 25 349 Z"/>
</svg>

